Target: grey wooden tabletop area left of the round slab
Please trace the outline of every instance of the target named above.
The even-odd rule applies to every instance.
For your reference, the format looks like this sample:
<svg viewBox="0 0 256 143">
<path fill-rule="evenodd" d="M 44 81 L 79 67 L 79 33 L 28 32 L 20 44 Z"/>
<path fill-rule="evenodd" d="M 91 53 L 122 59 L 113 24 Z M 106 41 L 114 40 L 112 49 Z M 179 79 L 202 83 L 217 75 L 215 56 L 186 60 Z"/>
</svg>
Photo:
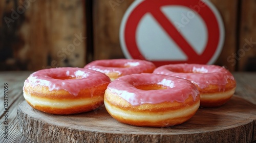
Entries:
<svg viewBox="0 0 256 143">
<path fill-rule="evenodd" d="M 8 73 L 0 72 L 0 81 L 1 84 L 8 83 L 8 139 L 4 138 L 4 129 L 5 125 L 3 124 L 5 121 L 4 112 L 1 112 L 0 116 L 0 142 L 27 142 L 32 143 L 35 142 L 33 140 L 28 139 L 18 130 L 18 120 L 17 120 L 17 106 L 20 102 L 24 101 L 22 87 L 24 85 L 25 79 L 31 74 L 31 71 L 13 71 Z M 10 76 L 10 74 L 12 76 Z M 0 92 L 3 92 L 4 89 L 0 88 Z M 4 98 L 0 99 L 0 107 L 1 110 L 4 107 Z M 2 110 L 3 111 L 3 110 Z"/>
</svg>

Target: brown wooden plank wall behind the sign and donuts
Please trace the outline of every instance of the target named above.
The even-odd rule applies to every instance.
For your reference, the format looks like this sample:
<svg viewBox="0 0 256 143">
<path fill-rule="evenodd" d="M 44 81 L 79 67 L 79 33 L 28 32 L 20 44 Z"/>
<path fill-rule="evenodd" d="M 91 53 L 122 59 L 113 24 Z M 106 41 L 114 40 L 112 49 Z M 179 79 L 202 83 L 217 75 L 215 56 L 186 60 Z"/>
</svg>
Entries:
<svg viewBox="0 0 256 143">
<path fill-rule="evenodd" d="M 124 58 L 119 27 L 125 10 L 133 2 L 1 1 L 0 70 L 83 67 L 92 60 Z M 255 1 L 211 2 L 225 26 L 223 50 L 215 64 L 230 71 L 255 71 Z"/>
</svg>

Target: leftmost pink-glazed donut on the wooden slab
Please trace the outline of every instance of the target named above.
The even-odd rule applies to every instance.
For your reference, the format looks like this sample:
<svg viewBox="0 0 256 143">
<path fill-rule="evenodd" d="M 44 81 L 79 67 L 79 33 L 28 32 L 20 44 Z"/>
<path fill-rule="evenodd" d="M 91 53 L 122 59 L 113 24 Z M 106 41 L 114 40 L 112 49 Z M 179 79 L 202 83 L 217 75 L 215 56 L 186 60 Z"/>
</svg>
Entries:
<svg viewBox="0 0 256 143">
<path fill-rule="evenodd" d="M 75 114 L 101 106 L 110 82 L 108 76 L 90 69 L 42 69 L 25 80 L 23 95 L 37 110 L 50 114 Z"/>
</svg>

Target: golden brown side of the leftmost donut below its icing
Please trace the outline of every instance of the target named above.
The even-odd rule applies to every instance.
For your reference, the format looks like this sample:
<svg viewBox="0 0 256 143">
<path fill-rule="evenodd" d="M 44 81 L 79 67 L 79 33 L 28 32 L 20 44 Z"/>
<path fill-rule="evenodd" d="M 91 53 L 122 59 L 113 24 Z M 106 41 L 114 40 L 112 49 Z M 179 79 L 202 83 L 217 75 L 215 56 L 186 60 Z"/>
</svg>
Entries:
<svg viewBox="0 0 256 143">
<path fill-rule="evenodd" d="M 107 83 L 82 89 L 77 96 L 66 90 L 49 91 L 47 86 L 24 86 L 24 98 L 35 109 L 50 114 L 75 114 L 94 110 L 103 104 Z"/>
</svg>

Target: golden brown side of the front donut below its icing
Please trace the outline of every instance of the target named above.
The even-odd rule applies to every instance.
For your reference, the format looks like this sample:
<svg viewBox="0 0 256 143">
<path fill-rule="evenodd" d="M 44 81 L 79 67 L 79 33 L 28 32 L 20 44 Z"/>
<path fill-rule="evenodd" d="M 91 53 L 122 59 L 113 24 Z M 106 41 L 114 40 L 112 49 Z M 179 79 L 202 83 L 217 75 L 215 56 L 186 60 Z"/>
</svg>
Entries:
<svg viewBox="0 0 256 143">
<path fill-rule="evenodd" d="M 132 106 L 106 89 L 104 104 L 111 116 L 121 123 L 142 127 L 167 127 L 189 120 L 199 108 L 200 96 L 195 101 L 189 96 L 183 103 L 175 101 Z"/>
</svg>

